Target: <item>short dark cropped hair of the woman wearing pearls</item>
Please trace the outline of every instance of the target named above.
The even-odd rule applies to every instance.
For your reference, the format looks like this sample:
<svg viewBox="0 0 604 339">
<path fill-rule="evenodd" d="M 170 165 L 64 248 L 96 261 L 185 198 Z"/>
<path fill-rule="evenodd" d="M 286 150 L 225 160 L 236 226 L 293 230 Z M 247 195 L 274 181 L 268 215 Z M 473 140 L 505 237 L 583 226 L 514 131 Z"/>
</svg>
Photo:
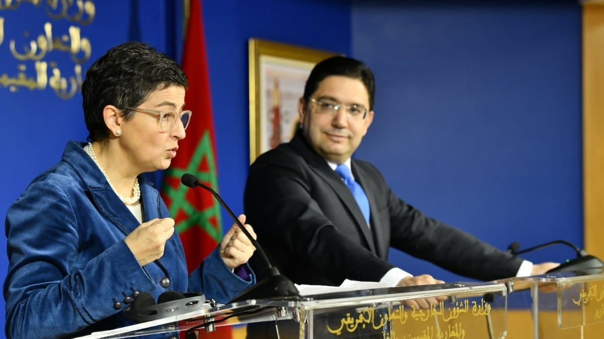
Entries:
<svg viewBox="0 0 604 339">
<path fill-rule="evenodd" d="M 82 106 L 88 140 L 109 137 L 103 109 L 137 107 L 150 93 L 170 86 L 187 88 L 187 76 L 167 55 L 142 42 L 126 42 L 109 49 L 86 72 L 82 84 Z M 124 110 L 124 118 L 134 112 Z"/>
</svg>

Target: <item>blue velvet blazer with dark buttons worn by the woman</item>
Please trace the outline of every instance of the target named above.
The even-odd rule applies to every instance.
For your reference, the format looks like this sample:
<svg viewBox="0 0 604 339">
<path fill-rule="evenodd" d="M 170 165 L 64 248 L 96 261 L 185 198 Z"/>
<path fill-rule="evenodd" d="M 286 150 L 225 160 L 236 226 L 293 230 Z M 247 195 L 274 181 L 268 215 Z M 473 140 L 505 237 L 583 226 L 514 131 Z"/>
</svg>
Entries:
<svg viewBox="0 0 604 339">
<path fill-rule="evenodd" d="M 7 338 L 57 338 L 132 325 L 124 299 L 148 291 L 202 292 L 225 303 L 254 284 L 233 274 L 215 249 L 190 275 L 175 232 L 161 259 L 141 267 L 124 238 L 139 226 L 78 142 L 8 209 Z M 143 218 L 169 217 L 139 178 Z M 162 337 L 165 337 L 163 335 Z M 150 337 L 145 337 L 150 338 Z"/>
</svg>

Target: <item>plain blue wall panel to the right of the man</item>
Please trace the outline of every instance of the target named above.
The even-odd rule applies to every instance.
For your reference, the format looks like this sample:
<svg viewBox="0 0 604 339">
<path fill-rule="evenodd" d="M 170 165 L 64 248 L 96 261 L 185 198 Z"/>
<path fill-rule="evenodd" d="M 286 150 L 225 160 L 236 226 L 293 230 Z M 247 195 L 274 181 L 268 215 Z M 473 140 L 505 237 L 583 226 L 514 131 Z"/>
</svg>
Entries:
<svg viewBox="0 0 604 339">
<path fill-rule="evenodd" d="M 352 54 L 377 82 L 356 156 L 407 203 L 500 249 L 582 246 L 580 6 L 490 3 L 355 2 Z M 573 255 L 556 246 L 525 258 Z M 465 279 L 397 251 L 390 259 Z"/>
</svg>

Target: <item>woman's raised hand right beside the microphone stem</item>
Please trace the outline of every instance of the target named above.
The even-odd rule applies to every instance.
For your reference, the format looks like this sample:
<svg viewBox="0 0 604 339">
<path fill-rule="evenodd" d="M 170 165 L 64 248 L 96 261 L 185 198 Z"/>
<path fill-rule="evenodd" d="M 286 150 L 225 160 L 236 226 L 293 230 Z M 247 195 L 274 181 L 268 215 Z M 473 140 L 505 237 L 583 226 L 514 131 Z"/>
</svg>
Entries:
<svg viewBox="0 0 604 339">
<path fill-rule="evenodd" d="M 256 239 L 256 233 L 254 233 L 252 226 L 245 224 L 245 215 L 239 215 L 237 219 L 244 224 L 243 226 L 252 238 Z M 231 226 L 231 229 L 226 232 L 220 242 L 220 258 L 225 262 L 226 267 L 231 268 L 231 270 L 248 262 L 255 250 L 256 248 L 252 245 L 252 242 L 237 224 Z"/>
</svg>

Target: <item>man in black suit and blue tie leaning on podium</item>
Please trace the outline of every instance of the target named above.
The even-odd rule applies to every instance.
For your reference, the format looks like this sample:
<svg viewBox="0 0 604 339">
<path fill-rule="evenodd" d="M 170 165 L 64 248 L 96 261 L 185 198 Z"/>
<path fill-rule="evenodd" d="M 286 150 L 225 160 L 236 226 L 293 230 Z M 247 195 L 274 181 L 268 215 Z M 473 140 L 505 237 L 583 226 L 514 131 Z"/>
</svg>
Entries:
<svg viewBox="0 0 604 339">
<path fill-rule="evenodd" d="M 252 164 L 245 214 L 282 274 L 297 284 L 442 282 L 395 267 L 387 261 L 390 246 L 481 280 L 541 274 L 558 265 L 533 265 L 427 217 L 396 197 L 373 165 L 351 159 L 373 121 L 373 104 L 373 73 L 364 63 L 323 60 L 304 87 L 292 141 Z M 262 279 L 266 268 L 258 263 L 254 271 Z"/>
</svg>

